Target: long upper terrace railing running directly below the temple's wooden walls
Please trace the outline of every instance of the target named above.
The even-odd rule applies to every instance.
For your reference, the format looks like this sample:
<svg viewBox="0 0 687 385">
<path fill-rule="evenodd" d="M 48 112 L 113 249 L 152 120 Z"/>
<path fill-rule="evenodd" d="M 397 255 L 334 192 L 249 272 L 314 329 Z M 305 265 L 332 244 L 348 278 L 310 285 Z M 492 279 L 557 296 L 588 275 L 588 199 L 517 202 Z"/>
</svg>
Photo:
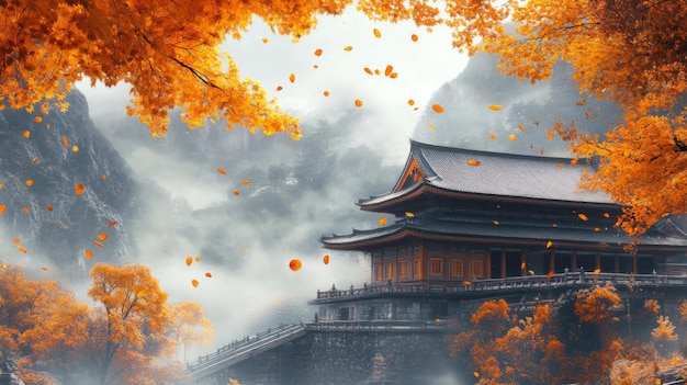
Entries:
<svg viewBox="0 0 687 385">
<path fill-rule="evenodd" d="M 567 272 L 548 275 L 509 276 L 505 279 L 480 280 L 442 283 L 406 283 L 387 282 L 382 284 L 364 284 L 362 287 L 336 288 L 317 291 L 317 299 L 347 298 L 371 296 L 388 293 L 460 293 L 480 292 L 508 288 L 541 288 L 563 285 L 596 285 L 596 284 L 630 284 L 630 285 L 668 285 L 687 286 L 687 276 L 658 274 L 626 274 L 626 273 L 595 273 Z"/>
</svg>

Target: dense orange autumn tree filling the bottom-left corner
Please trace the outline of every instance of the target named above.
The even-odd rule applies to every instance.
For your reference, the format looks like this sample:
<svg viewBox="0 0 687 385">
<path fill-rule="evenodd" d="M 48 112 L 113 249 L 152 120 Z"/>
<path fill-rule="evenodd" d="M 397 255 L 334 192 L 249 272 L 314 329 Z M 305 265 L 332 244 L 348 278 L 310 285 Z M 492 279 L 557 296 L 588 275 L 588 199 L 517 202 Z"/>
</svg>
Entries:
<svg viewBox="0 0 687 385">
<path fill-rule="evenodd" d="M 20 267 L 0 264 L 0 354 L 18 360 L 26 384 L 52 384 L 49 371 L 69 383 L 87 340 L 88 305 L 55 281 L 33 280 Z M 34 370 L 36 362 L 44 366 Z"/>
</svg>

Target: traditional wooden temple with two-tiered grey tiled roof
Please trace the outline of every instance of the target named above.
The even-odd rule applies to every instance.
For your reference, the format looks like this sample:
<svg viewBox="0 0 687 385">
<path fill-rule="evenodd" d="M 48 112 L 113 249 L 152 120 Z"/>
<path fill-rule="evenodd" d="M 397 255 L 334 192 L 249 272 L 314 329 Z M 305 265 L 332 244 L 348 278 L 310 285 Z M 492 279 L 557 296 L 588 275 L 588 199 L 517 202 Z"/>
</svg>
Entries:
<svg viewBox="0 0 687 385">
<path fill-rule="evenodd" d="M 444 295 L 427 312 L 419 309 L 427 302 L 406 301 L 407 296 L 395 305 L 388 295 L 378 304 L 354 302 L 381 291 L 464 293 L 480 282 L 575 279 L 585 272 L 684 275 L 685 223 L 668 216 L 639 238 L 627 236 L 615 227 L 622 206 L 601 192 L 579 188 L 585 169 L 594 172 L 592 165 L 575 165 L 568 158 L 412 140 L 391 191 L 358 202 L 361 210 L 387 217 L 386 223 L 322 237 L 325 248 L 369 256 L 372 269 L 370 284 L 362 288 L 319 292 L 312 302 L 320 305 L 318 316 L 327 320 L 446 316 L 451 302 L 465 297 Z M 379 313 L 380 306 L 392 306 L 393 312 Z"/>
</svg>

